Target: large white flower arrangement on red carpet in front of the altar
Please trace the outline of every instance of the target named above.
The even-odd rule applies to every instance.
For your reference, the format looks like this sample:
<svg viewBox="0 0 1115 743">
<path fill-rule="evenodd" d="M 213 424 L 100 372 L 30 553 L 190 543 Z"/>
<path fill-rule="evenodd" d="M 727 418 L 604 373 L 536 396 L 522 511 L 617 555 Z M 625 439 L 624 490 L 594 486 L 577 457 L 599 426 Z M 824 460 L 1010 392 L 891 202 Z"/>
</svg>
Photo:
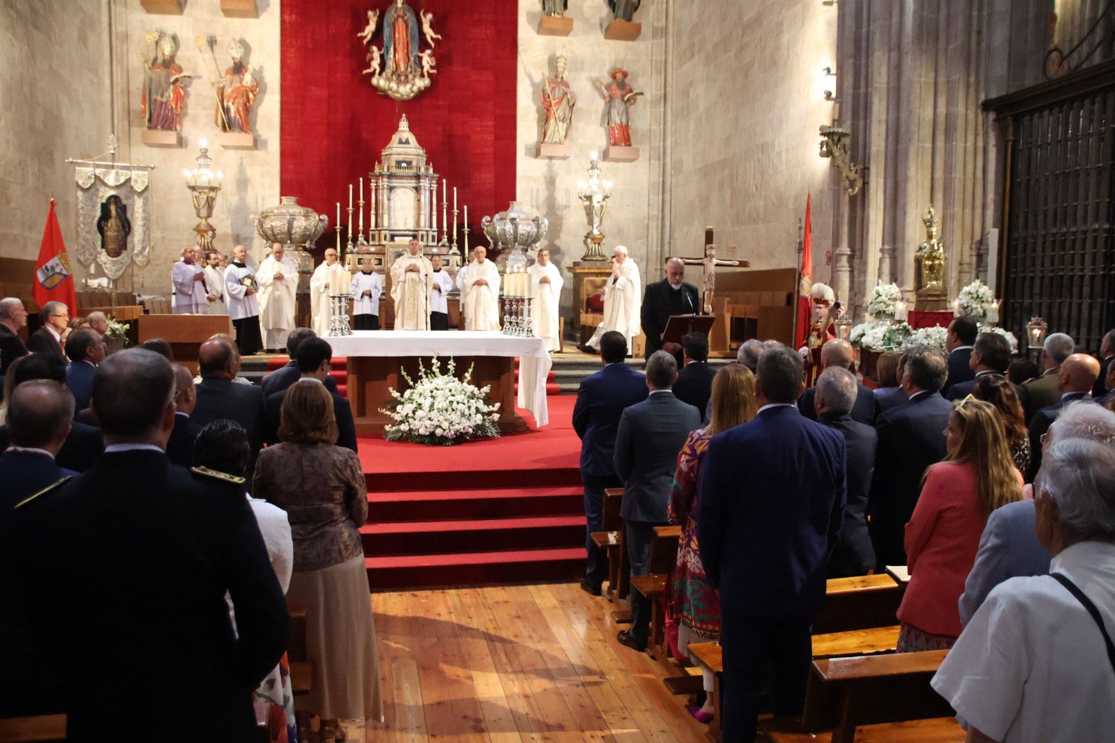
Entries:
<svg viewBox="0 0 1115 743">
<path fill-rule="evenodd" d="M 403 393 L 391 390 L 394 402 L 380 410 L 395 421 L 384 429 L 385 439 L 449 447 L 469 439 L 500 436 L 496 424 L 500 403 L 488 404 L 484 399 L 491 388 L 477 389 L 469 384 L 472 366 L 458 380 L 453 359 L 447 370 L 442 373 L 437 356 L 428 370 L 418 363 L 417 380 L 411 380 L 405 369 L 400 370 L 410 389 Z"/>
</svg>

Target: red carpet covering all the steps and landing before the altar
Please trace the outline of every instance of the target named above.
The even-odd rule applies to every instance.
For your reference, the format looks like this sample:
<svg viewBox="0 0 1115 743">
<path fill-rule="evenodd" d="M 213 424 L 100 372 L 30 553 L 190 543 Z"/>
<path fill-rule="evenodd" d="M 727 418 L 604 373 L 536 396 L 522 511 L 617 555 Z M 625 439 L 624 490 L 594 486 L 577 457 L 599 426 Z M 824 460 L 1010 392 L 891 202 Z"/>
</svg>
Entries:
<svg viewBox="0 0 1115 743">
<path fill-rule="evenodd" d="M 455 447 L 360 439 L 361 528 L 372 590 L 575 578 L 584 506 L 574 395 L 551 395 L 550 424 Z"/>
</svg>

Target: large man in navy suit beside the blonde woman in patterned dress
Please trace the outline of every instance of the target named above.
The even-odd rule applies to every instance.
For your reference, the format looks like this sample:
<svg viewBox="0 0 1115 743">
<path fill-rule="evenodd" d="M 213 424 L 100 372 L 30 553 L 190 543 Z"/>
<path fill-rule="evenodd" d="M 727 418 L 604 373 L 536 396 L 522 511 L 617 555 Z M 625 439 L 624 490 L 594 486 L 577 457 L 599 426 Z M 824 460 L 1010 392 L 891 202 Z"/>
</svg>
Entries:
<svg viewBox="0 0 1115 743">
<path fill-rule="evenodd" d="M 809 626 L 825 595 L 846 493 L 844 437 L 797 411 L 802 358 L 759 358 L 758 414 L 712 438 L 701 468 L 701 560 L 720 592 L 725 741 L 754 741 L 769 677 L 777 715 L 798 715 Z M 768 676 L 769 674 L 769 676 Z"/>
</svg>

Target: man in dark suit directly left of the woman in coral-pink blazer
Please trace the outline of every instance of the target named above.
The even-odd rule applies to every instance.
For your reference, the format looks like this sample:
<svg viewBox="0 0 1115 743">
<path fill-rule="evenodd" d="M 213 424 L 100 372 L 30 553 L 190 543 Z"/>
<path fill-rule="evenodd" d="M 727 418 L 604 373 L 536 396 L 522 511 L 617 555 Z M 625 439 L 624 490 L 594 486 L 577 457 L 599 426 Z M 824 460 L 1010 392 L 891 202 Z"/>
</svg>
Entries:
<svg viewBox="0 0 1115 743">
<path fill-rule="evenodd" d="M 909 402 L 875 421 L 879 449 L 867 514 L 878 567 L 905 565 L 905 525 L 921 495 L 930 465 L 944 459 L 944 429 L 952 403 L 941 397 L 948 375 L 939 351 L 918 346 L 905 352 L 902 390 Z"/>
</svg>

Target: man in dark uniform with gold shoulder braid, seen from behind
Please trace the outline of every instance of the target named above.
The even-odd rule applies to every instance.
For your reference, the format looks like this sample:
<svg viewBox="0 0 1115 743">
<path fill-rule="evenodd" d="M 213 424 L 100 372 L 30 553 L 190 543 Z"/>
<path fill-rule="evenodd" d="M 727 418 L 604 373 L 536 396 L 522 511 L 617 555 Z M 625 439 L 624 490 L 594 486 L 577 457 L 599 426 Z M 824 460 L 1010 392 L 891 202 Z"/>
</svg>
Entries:
<svg viewBox="0 0 1115 743">
<path fill-rule="evenodd" d="M 16 509 L 29 619 L 67 683 L 67 740 L 254 741 L 252 691 L 290 617 L 243 478 L 167 460 L 174 372 L 157 353 L 106 359 L 90 409 L 105 453 Z"/>
</svg>

